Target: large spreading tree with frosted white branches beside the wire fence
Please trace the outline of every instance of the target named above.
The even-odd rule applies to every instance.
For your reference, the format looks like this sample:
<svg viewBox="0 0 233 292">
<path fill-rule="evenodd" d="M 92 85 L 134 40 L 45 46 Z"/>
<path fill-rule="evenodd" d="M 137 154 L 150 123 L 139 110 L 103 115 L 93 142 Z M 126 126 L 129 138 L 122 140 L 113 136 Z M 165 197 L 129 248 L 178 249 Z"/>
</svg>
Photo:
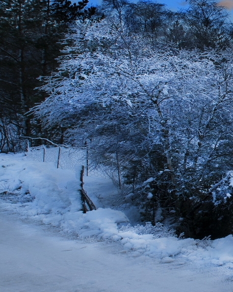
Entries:
<svg viewBox="0 0 233 292">
<path fill-rule="evenodd" d="M 35 114 L 67 142 L 91 140 L 93 161 L 118 169 L 148 219 L 160 210 L 202 236 L 192 221 L 233 169 L 232 52 L 155 49 L 114 16 L 76 31 Z"/>
</svg>

